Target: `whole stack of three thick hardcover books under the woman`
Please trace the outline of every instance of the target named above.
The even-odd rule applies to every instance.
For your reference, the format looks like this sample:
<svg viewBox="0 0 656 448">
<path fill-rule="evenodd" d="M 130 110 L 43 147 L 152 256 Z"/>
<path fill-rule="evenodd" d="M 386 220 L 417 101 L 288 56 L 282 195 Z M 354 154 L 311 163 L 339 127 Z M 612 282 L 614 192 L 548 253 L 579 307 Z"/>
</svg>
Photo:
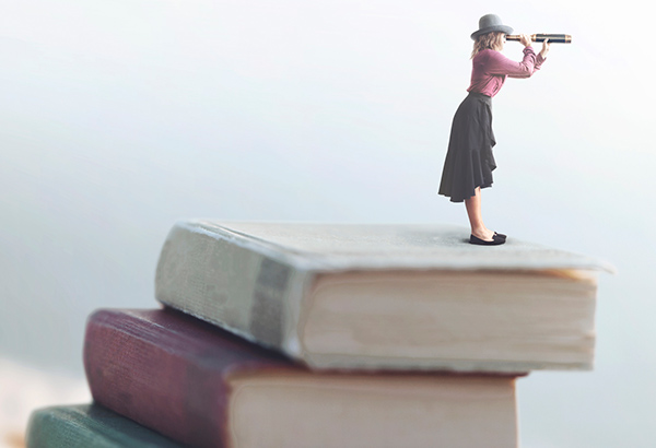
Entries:
<svg viewBox="0 0 656 448">
<path fill-rule="evenodd" d="M 185 221 L 156 309 L 90 318 L 94 403 L 31 447 L 516 447 L 515 380 L 590 369 L 598 260 L 437 225 Z"/>
</svg>

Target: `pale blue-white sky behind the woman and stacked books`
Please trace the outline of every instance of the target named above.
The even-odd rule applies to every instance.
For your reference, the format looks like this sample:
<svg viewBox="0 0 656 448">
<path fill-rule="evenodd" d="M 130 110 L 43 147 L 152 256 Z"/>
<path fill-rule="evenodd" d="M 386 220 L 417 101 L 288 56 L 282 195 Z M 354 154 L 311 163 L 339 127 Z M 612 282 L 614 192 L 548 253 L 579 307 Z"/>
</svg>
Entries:
<svg viewBox="0 0 656 448">
<path fill-rule="evenodd" d="M 595 370 L 519 380 L 522 445 L 654 446 L 648 2 L 0 5 L 0 356 L 72 377 L 93 309 L 157 306 L 177 219 L 467 225 L 435 191 L 478 19 L 572 34 L 493 99 L 483 213 L 619 273 L 600 276 Z"/>
</svg>

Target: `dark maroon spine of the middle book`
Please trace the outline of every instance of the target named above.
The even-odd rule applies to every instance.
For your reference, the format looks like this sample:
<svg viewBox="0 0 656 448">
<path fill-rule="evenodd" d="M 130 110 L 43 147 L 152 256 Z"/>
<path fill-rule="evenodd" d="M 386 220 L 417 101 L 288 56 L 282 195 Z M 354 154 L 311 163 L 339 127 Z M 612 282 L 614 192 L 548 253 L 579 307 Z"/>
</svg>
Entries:
<svg viewBox="0 0 656 448">
<path fill-rule="evenodd" d="M 218 447 L 227 392 L 223 366 L 203 364 L 202 351 L 180 330 L 101 310 L 86 326 L 84 369 L 97 403 L 179 443 Z"/>
</svg>

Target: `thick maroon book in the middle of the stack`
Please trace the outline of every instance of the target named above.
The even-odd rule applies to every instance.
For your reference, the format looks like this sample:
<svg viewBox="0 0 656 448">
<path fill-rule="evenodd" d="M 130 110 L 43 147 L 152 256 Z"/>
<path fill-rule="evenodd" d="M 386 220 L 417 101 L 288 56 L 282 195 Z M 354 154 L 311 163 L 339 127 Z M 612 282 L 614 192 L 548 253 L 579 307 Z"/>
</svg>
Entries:
<svg viewBox="0 0 656 448">
<path fill-rule="evenodd" d="M 316 373 L 173 309 L 98 310 L 94 400 L 199 447 L 516 447 L 512 375 Z"/>
</svg>

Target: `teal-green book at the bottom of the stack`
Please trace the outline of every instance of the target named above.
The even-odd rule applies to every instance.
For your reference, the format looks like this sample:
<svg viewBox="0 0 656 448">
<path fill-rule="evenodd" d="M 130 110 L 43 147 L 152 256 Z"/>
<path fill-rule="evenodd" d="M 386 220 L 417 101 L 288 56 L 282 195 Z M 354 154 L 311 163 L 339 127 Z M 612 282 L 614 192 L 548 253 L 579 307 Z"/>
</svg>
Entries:
<svg viewBox="0 0 656 448">
<path fill-rule="evenodd" d="M 183 445 L 97 404 L 38 409 L 27 448 L 183 448 Z"/>
</svg>

